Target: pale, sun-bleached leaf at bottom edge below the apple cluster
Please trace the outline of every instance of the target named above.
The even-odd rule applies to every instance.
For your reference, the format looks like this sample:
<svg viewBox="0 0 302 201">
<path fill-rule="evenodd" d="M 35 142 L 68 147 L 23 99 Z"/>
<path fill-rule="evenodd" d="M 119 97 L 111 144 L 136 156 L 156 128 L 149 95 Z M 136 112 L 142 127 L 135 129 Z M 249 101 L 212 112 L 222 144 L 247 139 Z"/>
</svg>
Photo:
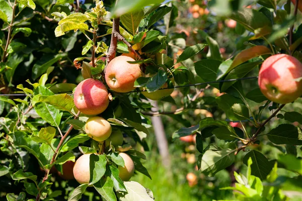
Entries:
<svg viewBox="0 0 302 201">
<path fill-rule="evenodd" d="M 136 181 L 125 181 L 124 182 L 127 192 L 126 194 L 118 194 L 120 201 L 154 201 L 147 193 L 146 189 Z"/>
</svg>

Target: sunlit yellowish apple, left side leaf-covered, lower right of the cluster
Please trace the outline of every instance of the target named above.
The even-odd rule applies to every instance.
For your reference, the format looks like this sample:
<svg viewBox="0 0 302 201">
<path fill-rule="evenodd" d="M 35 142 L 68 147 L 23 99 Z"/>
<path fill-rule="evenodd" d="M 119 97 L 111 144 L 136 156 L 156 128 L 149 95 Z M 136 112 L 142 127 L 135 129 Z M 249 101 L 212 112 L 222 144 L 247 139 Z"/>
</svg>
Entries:
<svg viewBox="0 0 302 201">
<path fill-rule="evenodd" d="M 126 153 L 121 152 L 121 153 L 119 153 L 119 155 L 124 159 L 124 162 L 125 162 L 125 167 L 118 166 L 119 177 L 123 181 L 129 181 L 129 179 L 131 178 L 131 176 L 134 173 L 134 163 L 133 163 L 133 160 Z"/>
</svg>

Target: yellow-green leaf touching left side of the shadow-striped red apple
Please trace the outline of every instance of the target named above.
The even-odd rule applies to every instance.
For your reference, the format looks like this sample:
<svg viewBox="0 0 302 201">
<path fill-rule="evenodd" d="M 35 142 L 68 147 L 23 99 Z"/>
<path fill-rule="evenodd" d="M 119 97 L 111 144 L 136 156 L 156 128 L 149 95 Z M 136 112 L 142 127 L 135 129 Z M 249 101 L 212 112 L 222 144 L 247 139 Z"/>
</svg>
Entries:
<svg viewBox="0 0 302 201">
<path fill-rule="evenodd" d="M 72 108 L 74 107 L 73 98 L 66 94 L 58 94 L 58 95 L 40 95 L 34 96 L 33 98 L 33 105 L 35 106 L 37 103 L 44 102 L 53 106 L 54 108 L 66 111 L 71 113 Z M 72 113 L 71 113 L 72 114 Z"/>
</svg>

